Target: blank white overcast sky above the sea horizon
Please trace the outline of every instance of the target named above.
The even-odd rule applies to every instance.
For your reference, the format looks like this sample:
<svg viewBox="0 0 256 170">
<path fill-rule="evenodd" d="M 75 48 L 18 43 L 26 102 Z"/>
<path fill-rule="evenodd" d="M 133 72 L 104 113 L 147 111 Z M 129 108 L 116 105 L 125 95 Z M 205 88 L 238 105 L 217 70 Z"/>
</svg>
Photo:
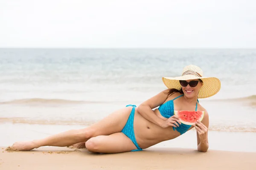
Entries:
<svg viewBox="0 0 256 170">
<path fill-rule="evenodd" d="M 256 1 L 0 0 L 0 47 L 256 48 Z"/>
</svg>

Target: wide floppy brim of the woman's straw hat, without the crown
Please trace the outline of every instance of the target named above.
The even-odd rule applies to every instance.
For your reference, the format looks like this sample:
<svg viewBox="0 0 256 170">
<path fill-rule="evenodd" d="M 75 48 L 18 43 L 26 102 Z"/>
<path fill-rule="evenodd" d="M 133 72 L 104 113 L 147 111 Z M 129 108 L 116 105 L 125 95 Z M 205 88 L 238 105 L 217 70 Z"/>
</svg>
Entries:
<svg viewBox="0 0 256 170">
<path fill-rule="evenodd" d="M 211 97 L 218 93 L 221 89 L 221 81 L 216 77 L 196 77 L 194 75 L 188 74 L 180 77 L 163 77 L 163 83 L 167 88 L 175 88 L 180 90 L 181 85 L 179 80 L 191 80 L 191 79 L 201 79 L 203 85 L 199 90 L 198 99 Z"/>
</svg>

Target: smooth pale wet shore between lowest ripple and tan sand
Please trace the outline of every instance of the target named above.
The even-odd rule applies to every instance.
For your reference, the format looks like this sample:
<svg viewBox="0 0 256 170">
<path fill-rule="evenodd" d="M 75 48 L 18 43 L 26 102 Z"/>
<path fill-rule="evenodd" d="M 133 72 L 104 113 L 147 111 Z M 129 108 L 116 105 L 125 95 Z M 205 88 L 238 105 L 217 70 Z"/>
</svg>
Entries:
<svg viewBox="0 0 256 170">
<path fill-rule="evenodd" d="M 14 142 L 43 139 L 47 136 L 70 129 L 81 129 L 86 126 L 75 125 L 28 125 L 0 124 L 1 146 L 10 146 Z M 209 149 L 238 152 L 256 152 L 256 133 L 234 131 L 212 131 L 208 134 Z M 244 144 L 246 141 L 246 144 Z M 189 130 L 176 139 L 160 142 L 152 147 L 157 148 L 189 148 L 196 149 L 197 136 L 195 130 Z"/>
</svg>

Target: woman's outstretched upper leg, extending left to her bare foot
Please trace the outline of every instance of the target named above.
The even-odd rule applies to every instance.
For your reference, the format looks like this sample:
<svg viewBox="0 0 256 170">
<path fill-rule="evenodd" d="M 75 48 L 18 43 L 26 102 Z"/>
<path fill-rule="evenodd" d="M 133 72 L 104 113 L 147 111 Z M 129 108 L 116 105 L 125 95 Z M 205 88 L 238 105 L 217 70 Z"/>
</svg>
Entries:
<svg viewBox="0 0 256 170">
<path fill-rule="evenodd" d="M 16 142 L 12 147 L 16 150 L 32 150 L 41 146 L 70 146 L 99 135 L 110 135 L 121 132 L 125 126 L 132 107 L 119 109 L 95 124 L 79 130 L 68 130 L 44 139 L 29 142 Z"/>
</svg>

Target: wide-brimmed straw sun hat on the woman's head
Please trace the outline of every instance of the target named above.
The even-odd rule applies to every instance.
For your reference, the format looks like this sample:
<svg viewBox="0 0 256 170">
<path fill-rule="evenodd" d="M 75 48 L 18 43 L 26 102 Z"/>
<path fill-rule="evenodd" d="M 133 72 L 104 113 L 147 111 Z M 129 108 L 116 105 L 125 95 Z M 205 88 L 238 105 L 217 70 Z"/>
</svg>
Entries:
<svg viewBox="0 0 256 170">
<path fill-rule="evenodd" d="M 199 90 L 198 99 L 207 98 L 218 93 L 221 89 L 221 81 L 216 77 L 203 77 L 203 71 L 196 65 L 187 65 L 180 77 L 163 77 L 163 83 L 167 88 L 180 90 L 179 80 L 201 79 L 203 85 Z"/>
</svg>

